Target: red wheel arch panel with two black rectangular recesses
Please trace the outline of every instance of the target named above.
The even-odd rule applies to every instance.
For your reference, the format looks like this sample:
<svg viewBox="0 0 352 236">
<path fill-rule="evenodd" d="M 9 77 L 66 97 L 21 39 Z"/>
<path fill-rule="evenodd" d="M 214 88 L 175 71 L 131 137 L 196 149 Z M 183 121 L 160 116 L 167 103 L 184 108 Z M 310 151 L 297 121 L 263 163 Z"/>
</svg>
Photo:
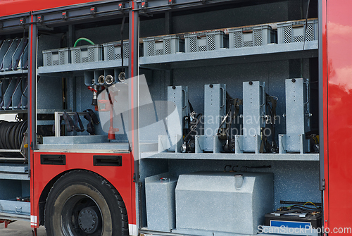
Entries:
<svg viewBox="0 0 352 236">
<path fill-rule="evenodd" d="M 40 161 L 41 154 L 58 154 L 66 156 L 65 165 L 42 165 Z M 94 166 L 94 155 L 119 155 L 122 156 L 122 166 Z M 131 154 L 94 154 L 94 153 L 72 153 L 72 152 L 34 152 L 34 163 L 32 169 L 32 180 L 34 180 L 34 191 L 32 194 L 32 212 L 31 216 L 39 216 L 39 197 L 42 194 L 44 187 L 53 180 L 57 175 L 75 169 L 91 170 L 103 178 L 111 182 L 118 190 L 128 214 L 130 224 L 136 224 L 135 204 L 134 204 L 134 182 L 133 169 L 134 163 Z M 34 212 L 33 212 L 34 210 Z M 38 224 L 33 224 L 32 227 L 39 227 Z"/>
</svg>

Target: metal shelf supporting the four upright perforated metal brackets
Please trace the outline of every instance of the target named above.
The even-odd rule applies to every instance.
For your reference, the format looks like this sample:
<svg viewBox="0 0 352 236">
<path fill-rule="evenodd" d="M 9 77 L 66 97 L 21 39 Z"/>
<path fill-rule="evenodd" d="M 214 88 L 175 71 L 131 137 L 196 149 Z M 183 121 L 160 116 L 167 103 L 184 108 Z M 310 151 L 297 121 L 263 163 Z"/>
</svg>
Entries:
<svg viewBox="0 0 352 236">
<path fill-rule="evenodd" d="M 144 152 L 141 153 L 141 159 L 319 161 L 319 154 L 182 154 L 174 152 Z"/>
</svg>

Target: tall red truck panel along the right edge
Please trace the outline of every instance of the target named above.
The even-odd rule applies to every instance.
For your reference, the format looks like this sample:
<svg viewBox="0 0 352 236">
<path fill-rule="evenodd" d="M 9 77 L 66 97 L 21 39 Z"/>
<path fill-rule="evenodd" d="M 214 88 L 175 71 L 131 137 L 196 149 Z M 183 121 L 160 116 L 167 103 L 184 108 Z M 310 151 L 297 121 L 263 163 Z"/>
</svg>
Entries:
<svg viewBox="0 0 352 236">
<path fill-rule="evenodd" d="M 352 1 L 327 1 L 327 201 L 330 233 L 352 226 Z M 326 129 L 325 129 L 326 130 Z M 327 214 L 325 213 L 325 216 Z M 346 232 L 345 232 L 346 233 Z M 349 232 L 351 233 L 351 232 Z"/>
</svg>

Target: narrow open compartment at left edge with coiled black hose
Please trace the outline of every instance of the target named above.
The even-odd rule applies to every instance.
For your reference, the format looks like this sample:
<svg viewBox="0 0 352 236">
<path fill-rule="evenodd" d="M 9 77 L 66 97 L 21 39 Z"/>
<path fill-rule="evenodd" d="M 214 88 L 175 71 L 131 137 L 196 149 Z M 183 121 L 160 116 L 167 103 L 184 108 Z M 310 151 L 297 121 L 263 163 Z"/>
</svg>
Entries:
<svg viewBox="0 0 352 236">
<path fill-rule="evenodd" d="M 30 220 L 27 37 L 27 30 L 0 35 L 0 218 L 23 221 Z"/>
</svg>

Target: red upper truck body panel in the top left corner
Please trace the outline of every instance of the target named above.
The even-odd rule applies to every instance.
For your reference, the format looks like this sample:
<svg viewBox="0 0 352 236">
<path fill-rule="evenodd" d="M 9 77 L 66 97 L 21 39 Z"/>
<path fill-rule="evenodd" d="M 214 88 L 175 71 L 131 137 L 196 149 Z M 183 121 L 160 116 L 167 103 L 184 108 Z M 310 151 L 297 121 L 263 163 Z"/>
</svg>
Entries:
<svg viewBox="0 0 352 236">
<path fill-rule="evenodd" d="M 69 6 L 74 4 L 83 4 L 99 0 L 60 0 L 60 1 L 45 1 L 45 0 L 1 0 L 0 1 L 0 16 L 25 13 L 30 11 L 39 11 L 49 8 L 61 6 Z"/>
</svg>

